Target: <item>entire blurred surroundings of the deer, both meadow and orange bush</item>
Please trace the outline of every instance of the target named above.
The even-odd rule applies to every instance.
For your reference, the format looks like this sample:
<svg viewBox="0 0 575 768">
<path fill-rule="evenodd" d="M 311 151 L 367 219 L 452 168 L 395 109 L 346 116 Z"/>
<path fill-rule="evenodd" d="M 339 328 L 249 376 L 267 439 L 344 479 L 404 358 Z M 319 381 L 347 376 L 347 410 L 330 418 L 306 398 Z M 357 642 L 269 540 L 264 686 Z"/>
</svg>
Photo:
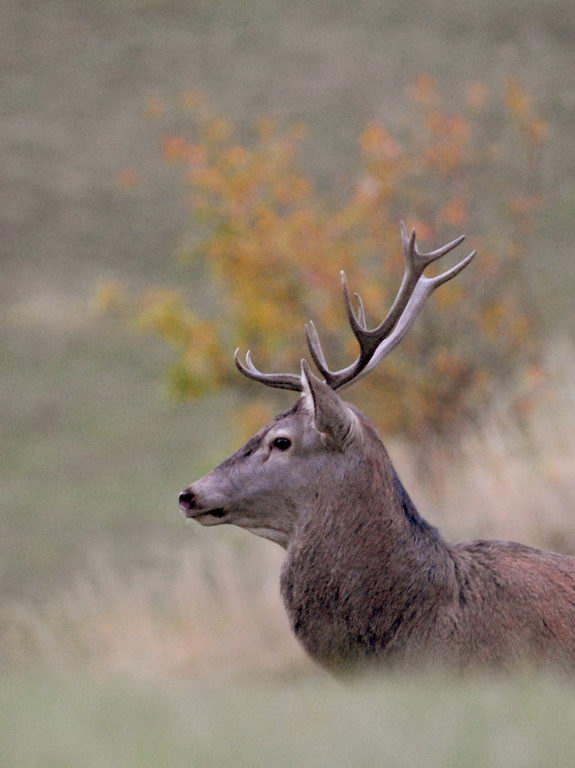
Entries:
<svg viewBox="0 0 575 768">
<path fill-rule="evenodd" d="M 363 751 L 310 733 L 285 764 L 572 764 L 553 681 L 450 684 L 436 720 L 428 681 L 333 687 L 290 637 L 279 549 L 187 525 L 177 494 L 290 402 L 238 380 L 235 346 L 293 367 L 313 316 L 349 360 L 338 270 L 377 322 L 404 218 L 426 250 L 465 231 L 480 257 L 350 399 L 448 538 L 575 554 L 574 35 L 568 0 L 5 0 L 4 764 L 269 765 L 308 722 L 337 747 L 344 716 Z M 234 758 L 209 715 L 237 722 L 246 697 L 286 729 L 259 755 L 240 718 Z M 486 752 L 494 730 L 523 751 Z"/>
</svg>

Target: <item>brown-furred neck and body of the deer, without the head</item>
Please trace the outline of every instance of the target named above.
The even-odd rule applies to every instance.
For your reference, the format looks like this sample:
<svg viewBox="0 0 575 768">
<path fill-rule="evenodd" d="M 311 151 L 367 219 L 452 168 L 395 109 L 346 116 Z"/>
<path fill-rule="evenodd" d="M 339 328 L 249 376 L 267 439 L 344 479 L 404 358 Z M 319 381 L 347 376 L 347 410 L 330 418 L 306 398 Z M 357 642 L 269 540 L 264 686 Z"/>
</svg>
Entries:
<svg viewBox="0 0 575 768">
<path fill-rule="evenodd" d="M 310 655 L 333 669 L 575 664 L 575 558 L 514 542 L 447 543 L 358 416 L 363 450 L 298 521 L 282 570 L 291 624 Z"/>
</svg>

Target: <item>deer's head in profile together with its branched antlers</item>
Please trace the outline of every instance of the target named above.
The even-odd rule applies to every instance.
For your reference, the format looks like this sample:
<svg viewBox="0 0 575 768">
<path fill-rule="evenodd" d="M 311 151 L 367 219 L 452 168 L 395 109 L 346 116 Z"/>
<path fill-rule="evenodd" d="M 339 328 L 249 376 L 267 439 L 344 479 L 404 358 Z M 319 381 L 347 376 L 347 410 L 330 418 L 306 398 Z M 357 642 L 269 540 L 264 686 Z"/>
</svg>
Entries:
<svg viewBox="0 0 575 768">
<path fill-rule="evenodd" d="M 305 329 L 307 342 L 321 378 L 305 360 L 299 374 L 262 373 L 249 352 L 243 363 L 236 350 L 241 373 L 266 386 L 299 392 L 300 398 L 239 451 L 182 491 L 180 507 L 187 517 L 202 525 L 237 525 L 287 548 L 298 522 L 311 513 L 318 499 L 350 493 L 376 438 L 362 415 L 336 390 L 373 370 L 399 344 L 433 291 L 459 274 L 475 256 L 473 251 L 446 272 L 425 277 L 425 268 L 452 251 L 464 236 L 430 253 L 420 253 L 415 231 L 408 235 L 402 224 L 401 235 L 403 280 L 391 309 L 376 328 L 367 328 L 357 294 L 354 309 L 341 273 L 347 315 L 360 349 L 354 363 L 330 370 L 311 321 Z"/>
</svg>

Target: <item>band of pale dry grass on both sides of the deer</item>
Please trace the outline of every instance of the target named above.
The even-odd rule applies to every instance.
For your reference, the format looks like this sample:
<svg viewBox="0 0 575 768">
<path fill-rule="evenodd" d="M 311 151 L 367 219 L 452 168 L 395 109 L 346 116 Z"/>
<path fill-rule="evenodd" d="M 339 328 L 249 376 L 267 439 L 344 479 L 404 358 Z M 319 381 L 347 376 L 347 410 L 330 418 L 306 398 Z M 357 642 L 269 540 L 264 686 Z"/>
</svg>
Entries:
<svg viewBox="0 0 575 768">
<path fill-rule="evenodd" d="M 437 449 L 432 480 L 421 479 L 406 446 L 392 446 L 418 505 L 448 538 L 575 552 L 574 360 L 557 347 L 541 407 L 519 421 L 501 406 L 457 446 Z M 8 658 L 138 678 L 305 668 L 279 598 L 281 550 L 210 533 L 177 552 L 155 551 L 136 570 L 93 557 L 42 605 L 10 606 Z"/>
</svg>

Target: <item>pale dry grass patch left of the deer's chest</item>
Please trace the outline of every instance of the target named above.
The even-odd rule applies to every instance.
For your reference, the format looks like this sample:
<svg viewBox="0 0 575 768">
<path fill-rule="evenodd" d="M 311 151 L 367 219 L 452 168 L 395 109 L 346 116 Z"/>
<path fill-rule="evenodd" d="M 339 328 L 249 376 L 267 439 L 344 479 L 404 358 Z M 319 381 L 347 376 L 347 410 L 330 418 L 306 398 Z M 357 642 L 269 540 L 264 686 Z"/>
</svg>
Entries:
<svg viewBox="0 0 575 768">
<path fill-rule="evenodd" d="M 281 552 L 254 544 L 156 551 L 128 573 L 100 554 L 64 593 L 9 606 L 5 650 L 21 665 L 151 679 L 301 666 L 278 594 Z"/>
</svg>

